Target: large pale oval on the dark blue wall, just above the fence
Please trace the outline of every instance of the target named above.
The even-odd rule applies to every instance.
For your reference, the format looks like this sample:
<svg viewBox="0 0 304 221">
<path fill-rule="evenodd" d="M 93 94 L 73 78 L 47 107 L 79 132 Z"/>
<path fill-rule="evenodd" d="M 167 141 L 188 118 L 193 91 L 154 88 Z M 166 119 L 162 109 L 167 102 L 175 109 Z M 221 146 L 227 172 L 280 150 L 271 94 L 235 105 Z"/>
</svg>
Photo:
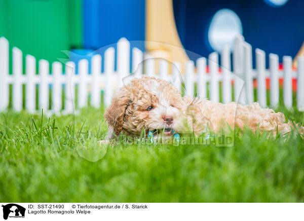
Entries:
<svg viewBox="0 0 304 221">
<path fill-rule="evenodd" d="M 232 50 L 238 34 L 243 34 L 242 22 L 234 11 L 221 9 L 214 14 L 208 30 L 208 41 L 213 50 L 220 52 L 224 45 L 229 45 Z"/>
</svg>

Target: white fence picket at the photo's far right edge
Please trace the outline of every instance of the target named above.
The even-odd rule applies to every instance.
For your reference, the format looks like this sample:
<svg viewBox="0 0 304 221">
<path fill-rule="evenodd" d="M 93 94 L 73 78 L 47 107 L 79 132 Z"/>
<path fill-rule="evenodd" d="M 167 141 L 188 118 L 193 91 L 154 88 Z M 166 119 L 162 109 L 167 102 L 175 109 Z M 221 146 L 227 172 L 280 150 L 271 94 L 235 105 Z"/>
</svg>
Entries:
<svg viewBox="0 0 304 221">
<path fill-rule="evenodd" d="M 297 70 L 297 108 L 301 111 L 304 110 L 304 57 L 299 56 L 298 70 Z"/>
</svg>

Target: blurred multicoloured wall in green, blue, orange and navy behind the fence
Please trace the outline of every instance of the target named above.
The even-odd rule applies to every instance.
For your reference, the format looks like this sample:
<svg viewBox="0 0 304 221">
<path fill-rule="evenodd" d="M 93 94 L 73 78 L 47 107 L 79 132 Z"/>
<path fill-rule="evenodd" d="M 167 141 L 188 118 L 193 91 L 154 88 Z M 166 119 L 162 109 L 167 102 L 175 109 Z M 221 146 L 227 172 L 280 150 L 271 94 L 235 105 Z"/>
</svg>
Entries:
<svg viewBox="0 0 304 221">
<path fill-rule="evenodd" d="M 102 54 L 100 48 L 122 37 L 182 62 L 220 52 L 237 34 L 253 50 L 294 58 L 304 40 L 303 9 L 299 0 L 0 0 L 0 36 L 50 62 L 62 50 L 71 50 L 75 62 L 78 55 Z M 168 45 L 185 50 L 174 53 Z"/>
</svg>

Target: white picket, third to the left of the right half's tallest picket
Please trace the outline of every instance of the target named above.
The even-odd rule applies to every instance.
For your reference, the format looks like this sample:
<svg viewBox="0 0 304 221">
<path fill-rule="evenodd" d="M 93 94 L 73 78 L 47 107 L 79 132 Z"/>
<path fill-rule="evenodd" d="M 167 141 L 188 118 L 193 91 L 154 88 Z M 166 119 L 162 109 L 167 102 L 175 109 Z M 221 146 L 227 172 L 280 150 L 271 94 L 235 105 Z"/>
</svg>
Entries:
<svg viewBox="0 0 304 221">
<path fill-rule="evenodd" d="M 206 58 L 201 57 L 197 59 L 198 68 L 198 96 L 200 98 L 207 98 L 207 72 L 206 72 Z"/>
</svg>

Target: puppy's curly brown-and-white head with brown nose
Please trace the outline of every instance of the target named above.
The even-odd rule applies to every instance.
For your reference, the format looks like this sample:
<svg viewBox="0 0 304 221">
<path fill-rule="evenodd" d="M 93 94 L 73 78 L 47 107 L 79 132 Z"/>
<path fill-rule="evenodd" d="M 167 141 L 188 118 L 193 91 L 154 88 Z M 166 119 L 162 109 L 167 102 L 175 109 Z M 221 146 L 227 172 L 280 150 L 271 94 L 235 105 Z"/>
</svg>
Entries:
<svg viewBox="0 0 304 221">
<path fill-rule="evenodd" d="M 116 135 L 139 136 L 144 130 L 172 135 L 183 127 L 185 103 L 170 83 L 151 77 L 119 89 L 106 109 L 108 127 Z"/>
</svg>

